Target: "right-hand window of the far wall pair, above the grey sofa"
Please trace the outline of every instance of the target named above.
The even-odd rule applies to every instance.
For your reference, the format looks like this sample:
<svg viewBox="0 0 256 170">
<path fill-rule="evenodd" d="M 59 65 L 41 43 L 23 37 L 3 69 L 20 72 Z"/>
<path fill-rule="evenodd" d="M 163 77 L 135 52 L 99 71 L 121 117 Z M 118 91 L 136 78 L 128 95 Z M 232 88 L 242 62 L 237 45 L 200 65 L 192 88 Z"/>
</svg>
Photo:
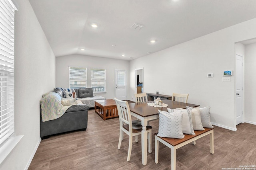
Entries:
<svg viewBox="0 0 256 170">
<path fill-rule="evenodd" d="M 106 70 L 91 69 L 91 87 L 93 92 L 106 92 Z"/>
</svg>

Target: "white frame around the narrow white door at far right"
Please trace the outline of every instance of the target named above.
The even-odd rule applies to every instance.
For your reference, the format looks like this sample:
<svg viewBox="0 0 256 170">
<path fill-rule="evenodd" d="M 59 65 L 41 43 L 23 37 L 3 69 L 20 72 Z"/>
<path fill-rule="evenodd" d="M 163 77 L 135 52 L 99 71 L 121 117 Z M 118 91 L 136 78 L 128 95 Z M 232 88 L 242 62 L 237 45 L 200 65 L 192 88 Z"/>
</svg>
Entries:
<svg viewBox="0 0 256 170">
<path fill-rule="evenodd" d="M 243 92 L 243 94 L 242 94 L 242 123 L 244 123 L 245 121 L 245 118 L 244 118 L 244 56 L 243 55 L 240 55 L 240 54 L 235 54 L 235 63 L 236 63 L 236 56 L 240 56 L 240 57 L 242 57 L 242 92 Z M 236 63 L 237 64 L 237 63 Z M 236 66 L 236 65 L 235 65 Z M 236 79 L 236 82 L 237 82 L 237 77 L 236 77 L 236 75 L 235 75 L 235 79 Z M 234 88 L 234 100 L 235 100 L 235 106 L 234 106 L 234 112 L 235 112 L 235 115 L 234 115 L 234 125 L 235 125 L 235 127 L 236 127 L 236 116 L 237 116 L 237 110 L 236 110 L 236 105 L 237 105 L 237 103 L 236 103 L 236 82 L 235 82 L 235 88 Z"/>
</svg>

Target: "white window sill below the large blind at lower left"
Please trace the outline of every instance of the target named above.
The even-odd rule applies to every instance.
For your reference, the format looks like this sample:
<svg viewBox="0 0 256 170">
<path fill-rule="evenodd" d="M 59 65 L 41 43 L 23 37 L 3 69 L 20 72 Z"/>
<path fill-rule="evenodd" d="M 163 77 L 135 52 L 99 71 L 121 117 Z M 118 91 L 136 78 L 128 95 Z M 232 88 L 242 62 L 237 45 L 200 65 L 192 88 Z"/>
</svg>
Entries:
<svg viewBox="0 0 256 170">
<path fill-rule="evenodd" d="M 23 136 L 24 135 L 10 137 L 8 141 L 6 141 L 6 143 L 0 147 L 0 164 L 2 164 L 4 159 L 8 156 L 8 154 L 10 154 Z"/>
</svg>

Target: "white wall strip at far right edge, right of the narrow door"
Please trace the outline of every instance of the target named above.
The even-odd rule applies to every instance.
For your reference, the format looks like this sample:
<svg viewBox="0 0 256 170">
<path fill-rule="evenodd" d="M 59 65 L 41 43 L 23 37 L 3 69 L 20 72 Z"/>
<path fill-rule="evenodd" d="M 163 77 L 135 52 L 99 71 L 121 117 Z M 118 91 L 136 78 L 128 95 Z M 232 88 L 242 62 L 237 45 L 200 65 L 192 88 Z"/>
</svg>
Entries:
<svg viewBox="0 0 256 170">
<path fill-rule="evenodd" d="M 244 117 L 256 125 L 256 43 L 245 45 L 244 57 Z"/>
</svg>

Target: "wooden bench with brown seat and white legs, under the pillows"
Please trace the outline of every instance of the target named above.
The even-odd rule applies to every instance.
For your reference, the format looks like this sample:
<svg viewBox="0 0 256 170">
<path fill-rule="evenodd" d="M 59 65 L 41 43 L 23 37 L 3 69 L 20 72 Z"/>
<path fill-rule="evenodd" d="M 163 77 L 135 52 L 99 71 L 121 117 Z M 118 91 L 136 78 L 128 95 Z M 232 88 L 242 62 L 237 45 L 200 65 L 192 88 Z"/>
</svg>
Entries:
<svg viewBox="0 0 256 170">
<path fill-rule="evenodd" d="M 155 162 L 158 163 L 158 150 L 159 150 L 159 141 L 171 149 L 171 169 L 176 169 L 176 149 L 187 145 L 188 143 L 193 143 L 196 145 L 196 140 L 210 134 L 210 153 L 214 154 L 213 149 L 213 129 L 214 128 L 204 128 L 204 131 L 194 131 L 196 135 L 187 135 L 183 139 L 176 138 L 167 138 L 167 137 L 158 137 L 155 133 Z"/>
</svg>

